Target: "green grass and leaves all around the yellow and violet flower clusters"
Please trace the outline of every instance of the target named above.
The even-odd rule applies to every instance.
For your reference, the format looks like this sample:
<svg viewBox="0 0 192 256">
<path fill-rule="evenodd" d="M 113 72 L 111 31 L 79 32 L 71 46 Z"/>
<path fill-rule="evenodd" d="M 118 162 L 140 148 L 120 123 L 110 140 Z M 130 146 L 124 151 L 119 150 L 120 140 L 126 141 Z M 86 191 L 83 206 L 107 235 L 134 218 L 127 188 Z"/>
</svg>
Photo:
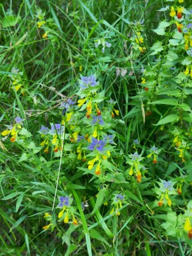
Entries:
<svg viewBox="0 0 192 256">
<path fill-rule="evenodd" d="M 24 129 L 23 142 L 0 138 L 0 255 L 191 254 L 191 241 L 183 229 L 191 216 L 192 82 L 190 73 L 183 73 L 187 67 L 192 69 L 191 56 L 170 8 L 157 11 L 166 5 L 176 6 L 178 1 L 1 2 L 1 132 L 17 116 L 24 119 Z M 184 1 L 184 6 L 191 10 L 190 1 Z M 38 28 L 39 9 L 46 23 Z M 168 24 L 160 30 L 162 20 Z M 47 38 L 42 37 L 45 31 Z M 144 52 L 136 43 L 139 31 Z M 103 38 L 111 43 L 105 53 L 101 46 L 94 46 Z M 11 78 L 14 67 L 23 72 L 19 90 Z M 118 76 L 117 69 L 125 69 L 126 75 Z M 53 148 L 45 154 L 38 131 L 41 125 L 62 121 L 58 106 L 68 98 L 77 101 L 80 74 L 94 73 L 100 91 L 105 92 L 106 98 L 98 96 L 105 122 L 110 119 L 110 98 L 119 110 L 107 130 L 115 134 L 116 149 L 112 171 L 103 180 L 74 160 L 70 151 L 64 154 L 57 196 L 73 197 L 78 219 L 74 226 L 58 221 L 56 207 L 52 212 L 60 158 Z M 79 110 L 77 119 L 84 127 Z M 68 133 L 72 133 L 70 127 Z M 176 137 L 182 157 L 177 142 L 173 143 Z M 147 158 L 153 145 L 161 148 L 157 164 Z M 141 183 L 128 175 L 135 151 L 145 158 Z M 174 182 L 171 207 L 158 206 L 160 179 Z M 177 184 L 182 184 L 181 195 Z M 115 193 L 125 196 L 120 216 L 110 215 Z M 86 200 L 89 207 L 82 211 L 81 202 Z M 58 203 L 56 197 L 55 206 Z M 46 212 L 52 214 L 54 229 L 43 230 L 48 224 Z"/>
</svg>

